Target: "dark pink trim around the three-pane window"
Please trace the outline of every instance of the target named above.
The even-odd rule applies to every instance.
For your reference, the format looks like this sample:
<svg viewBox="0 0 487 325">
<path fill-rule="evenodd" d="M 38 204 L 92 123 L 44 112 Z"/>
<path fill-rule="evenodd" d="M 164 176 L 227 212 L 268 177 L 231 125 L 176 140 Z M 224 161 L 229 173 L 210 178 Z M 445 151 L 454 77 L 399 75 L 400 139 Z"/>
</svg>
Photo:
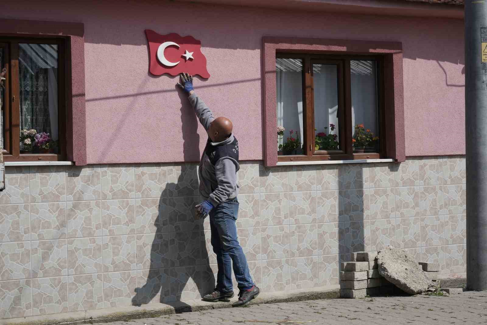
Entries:
<svg viewBox="0 0 487 325">
<path fill-rule="evenodd" d="M 385 66 L 385 115 L 387 158 L 404 162 L 404 102 L 402 77 L 402 43 L 387 41 L 357 41 L 336 39 L 307 39 L 263 37 L 264 60 L 264 163 L 277 164 L 276 113 L 276 53 L 279 51 L 320 54 L 383 54 Z"/>
</svg>

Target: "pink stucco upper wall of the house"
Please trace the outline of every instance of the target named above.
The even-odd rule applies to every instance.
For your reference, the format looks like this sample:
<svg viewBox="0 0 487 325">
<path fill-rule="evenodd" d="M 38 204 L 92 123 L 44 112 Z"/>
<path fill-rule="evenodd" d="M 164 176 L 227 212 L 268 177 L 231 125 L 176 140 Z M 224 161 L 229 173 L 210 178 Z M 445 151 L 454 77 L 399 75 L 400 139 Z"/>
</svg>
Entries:
<svg viewBox="0 0 487 325">
<path fill-rule="evenodd" d="M 2 1 L 0 18 L 84 23 L 88 163 L 199 159 L 205 131 L 176 79 L 148 73 L 144 29 L 202 41 L 211 78 L 196 81 L 196 91 L 232 119 L 243 160 L 263 156 L 262 36 L 402 42 L 406 155 L 465 152 L 463 20 L 169 1 L 49 3 Z"/>
</svg>

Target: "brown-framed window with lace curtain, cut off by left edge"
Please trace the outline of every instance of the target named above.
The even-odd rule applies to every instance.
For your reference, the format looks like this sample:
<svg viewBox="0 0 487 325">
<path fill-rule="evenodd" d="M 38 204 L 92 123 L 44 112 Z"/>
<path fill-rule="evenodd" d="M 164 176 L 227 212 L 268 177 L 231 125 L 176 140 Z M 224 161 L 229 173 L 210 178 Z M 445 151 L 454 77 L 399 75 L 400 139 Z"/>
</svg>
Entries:
<svg viewBox="0 0 487 325">
<path fill-rule="evenodd" d="M 1 38 L 0 148 L 5 161 L 66 157 L 64 40 Z"/>
</svg>

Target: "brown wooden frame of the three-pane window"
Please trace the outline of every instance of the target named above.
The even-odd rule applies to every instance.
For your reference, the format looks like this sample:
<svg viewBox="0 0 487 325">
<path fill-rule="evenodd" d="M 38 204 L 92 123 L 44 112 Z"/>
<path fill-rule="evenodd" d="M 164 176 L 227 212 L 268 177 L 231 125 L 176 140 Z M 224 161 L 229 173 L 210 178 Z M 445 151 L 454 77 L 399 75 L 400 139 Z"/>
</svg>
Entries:
<svg viewBox="0 0 487 325">
<path fill-rule="evenodd" d="M 303 154 L 278 156 L 278 162 L 329 161 L 329 160 L 363 160 L 385 158 L 387 139 L 382 137 L 384 129 L 383 56 L 380 55 L 330 55 L 317 53 L 297 53 L 294 51 L 279 51 L 276 59 L 300 59 L 303 62 L 302 91 L 303 91 Z M 352 146 L 352 84 L 350 61 L 375 61 L 378 67 L 376 76 L 377 87 L 377 120 L 379 133 L 379 150 L 370 153 L 354 153 Z M 313 64 L 337 65 L 338 108 L 339 108 L 339 143 L 340 149 L 332 152 L 326 150 L 315 151 L 315 112 L 314 112 L 314 82 Z M 277 148 L 276 148 L 277 150 Z"/>
</svg>

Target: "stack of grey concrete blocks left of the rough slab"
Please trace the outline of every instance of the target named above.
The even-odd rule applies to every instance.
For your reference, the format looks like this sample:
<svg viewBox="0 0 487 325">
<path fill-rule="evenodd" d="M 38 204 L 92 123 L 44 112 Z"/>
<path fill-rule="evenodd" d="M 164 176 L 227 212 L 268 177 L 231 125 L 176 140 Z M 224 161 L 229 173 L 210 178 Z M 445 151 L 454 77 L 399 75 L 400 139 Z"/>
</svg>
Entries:
<svg viewBox="0 0 487 325">
<path fill-rule="evenodd" d="M 351 262 L 341 263 L 341 298 L 364 298 L 393 292 L 394 285 L 379 274 L 376 258 L 377 252 L 357 252 L 351 254 Z"/>
</svg>

